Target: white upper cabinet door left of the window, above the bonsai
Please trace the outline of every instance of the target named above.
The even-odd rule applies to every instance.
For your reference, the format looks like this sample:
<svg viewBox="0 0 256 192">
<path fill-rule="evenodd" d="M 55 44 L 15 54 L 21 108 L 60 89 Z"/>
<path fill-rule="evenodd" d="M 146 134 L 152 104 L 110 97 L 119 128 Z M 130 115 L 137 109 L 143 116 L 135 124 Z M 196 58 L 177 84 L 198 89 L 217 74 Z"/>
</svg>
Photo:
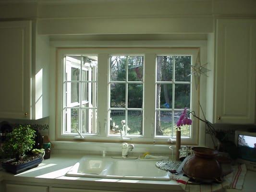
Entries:
<svg viewBox="0 0 256 192">
<path fill-rule="evenodd" d="M 0 22 L 0 118 L 30 118 L 31 22 Z"/>
</svg>

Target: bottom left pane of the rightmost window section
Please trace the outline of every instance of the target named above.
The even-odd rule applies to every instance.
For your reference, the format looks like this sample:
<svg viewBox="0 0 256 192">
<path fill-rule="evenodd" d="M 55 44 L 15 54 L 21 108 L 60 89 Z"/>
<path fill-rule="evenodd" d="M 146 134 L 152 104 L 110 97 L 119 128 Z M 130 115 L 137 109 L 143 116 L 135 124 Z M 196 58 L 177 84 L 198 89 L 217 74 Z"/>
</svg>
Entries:
<svg viewBox="0 0 256 192">
<path fill-rule="evenodd" d="M 156 111 L 156 135 L 171 136 L 172 134 L 172 112 Z"/>
</svg>

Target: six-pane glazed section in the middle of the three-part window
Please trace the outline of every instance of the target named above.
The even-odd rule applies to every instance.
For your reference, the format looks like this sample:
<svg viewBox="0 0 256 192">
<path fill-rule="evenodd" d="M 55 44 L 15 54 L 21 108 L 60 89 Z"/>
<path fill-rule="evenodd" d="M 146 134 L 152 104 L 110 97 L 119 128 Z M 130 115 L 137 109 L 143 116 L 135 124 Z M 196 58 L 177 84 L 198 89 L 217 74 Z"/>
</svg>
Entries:
<svg viewBox="0 0 256 192">
<path fill-rule="evenodd" d="M 143 135 L 144 56 L 110 55 L 109 135 Z"/>
</svg>

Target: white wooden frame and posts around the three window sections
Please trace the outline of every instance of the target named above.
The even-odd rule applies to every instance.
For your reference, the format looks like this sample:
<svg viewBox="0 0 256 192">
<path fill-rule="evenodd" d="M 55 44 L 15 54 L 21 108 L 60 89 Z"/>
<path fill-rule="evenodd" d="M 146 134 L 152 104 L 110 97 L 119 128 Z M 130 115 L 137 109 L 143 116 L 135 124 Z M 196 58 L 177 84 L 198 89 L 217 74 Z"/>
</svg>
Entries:
<svg viewBox="0 0 256 192">
<path fill-rule="evenodd" d="M 192 64 L 195 64 L 198 48 L 57 48 L 57 92 L 56 92 L 56 140 L 73 139 L 73 135 L 61 134 L 62 122 L 62 83 L 63 58 L 65 55 L 97 55 L 98 56 L 98 112 L 97 112 L 97 135 L 86 136 L 86 141 L 97 142 L 120 142 L 121 138 L 108 135 L 108 106 L 109 90 L 108 78 L 110 55 L 144 55 L 144 112 L 143 112 L 143 133 L 141 137 L 132 137 L 133 143 L 155 143 L 167 144 L 167 138 L 154 137 L 155 135 L 155 86 L 156 86 L 156 57 L 157 55 L 192 55 Z M 195 89 L 195 83 L 192 76 L 191 110 L 199 114 L 199 89 Z M 145 97 L 146 96 L 146 97 Z M 101 99 L 107 98 L 107 99 Z M 154 102 L 152 102 L 154 101 Z M 191 138 L 182 138 L 182 144 L 198 143 L 199 122 L 193 119 Z M 130 137 L 130 136 L 129 136 Z"/>
</svg>

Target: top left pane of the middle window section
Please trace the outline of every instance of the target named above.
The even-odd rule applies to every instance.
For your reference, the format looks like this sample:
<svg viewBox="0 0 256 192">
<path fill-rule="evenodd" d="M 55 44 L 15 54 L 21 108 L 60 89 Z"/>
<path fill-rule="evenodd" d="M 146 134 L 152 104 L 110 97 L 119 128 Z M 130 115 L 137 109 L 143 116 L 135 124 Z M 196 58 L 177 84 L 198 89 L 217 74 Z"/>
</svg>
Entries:
<svg viewBox="0 0 256 192">
<path fill-rule="evenodd" d="M 110 56 L 110 81 L 125 81 L 127 59 L 125 56 Z"/>
</svg>

